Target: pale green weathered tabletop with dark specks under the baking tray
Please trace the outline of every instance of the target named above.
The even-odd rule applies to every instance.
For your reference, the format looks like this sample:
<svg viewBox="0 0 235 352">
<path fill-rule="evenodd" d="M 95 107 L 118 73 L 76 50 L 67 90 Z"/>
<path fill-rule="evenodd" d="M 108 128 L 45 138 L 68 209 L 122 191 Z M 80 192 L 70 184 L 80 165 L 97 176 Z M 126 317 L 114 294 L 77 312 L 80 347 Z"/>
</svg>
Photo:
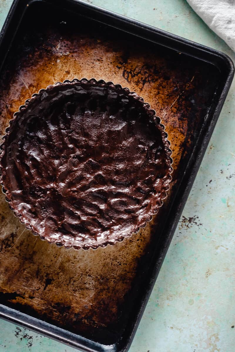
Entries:
<svg viewBox="0 0 235 352">
<path fill-rule="evenodd" d="M 235 61 L 235 54 L 184 0 L 89 2 L 221 50 Z M 0 0 L 0 26 L 10 3 Z M 234 95 L 235 82 L 130 352 L 235 351 Z M 17 329 L 0 320 L 0 352 L 75 351 Z"/>
</svg>

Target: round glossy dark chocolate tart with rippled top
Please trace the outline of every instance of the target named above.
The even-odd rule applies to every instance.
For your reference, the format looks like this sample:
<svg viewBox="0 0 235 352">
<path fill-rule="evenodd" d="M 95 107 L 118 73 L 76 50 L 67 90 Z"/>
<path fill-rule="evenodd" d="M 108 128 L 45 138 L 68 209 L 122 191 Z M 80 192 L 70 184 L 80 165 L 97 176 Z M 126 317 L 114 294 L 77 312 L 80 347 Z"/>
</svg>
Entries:
<svg viewBox="0 0 235 352">
<path fill-rule="evenodd" d="M 15 214 L 50 243 L 113 244 L 144 226 L 171 181 L 171 151 L 149 104 L 112 83 L 43 89 L 14 115 L 1 183 Z"/>
</svg>

